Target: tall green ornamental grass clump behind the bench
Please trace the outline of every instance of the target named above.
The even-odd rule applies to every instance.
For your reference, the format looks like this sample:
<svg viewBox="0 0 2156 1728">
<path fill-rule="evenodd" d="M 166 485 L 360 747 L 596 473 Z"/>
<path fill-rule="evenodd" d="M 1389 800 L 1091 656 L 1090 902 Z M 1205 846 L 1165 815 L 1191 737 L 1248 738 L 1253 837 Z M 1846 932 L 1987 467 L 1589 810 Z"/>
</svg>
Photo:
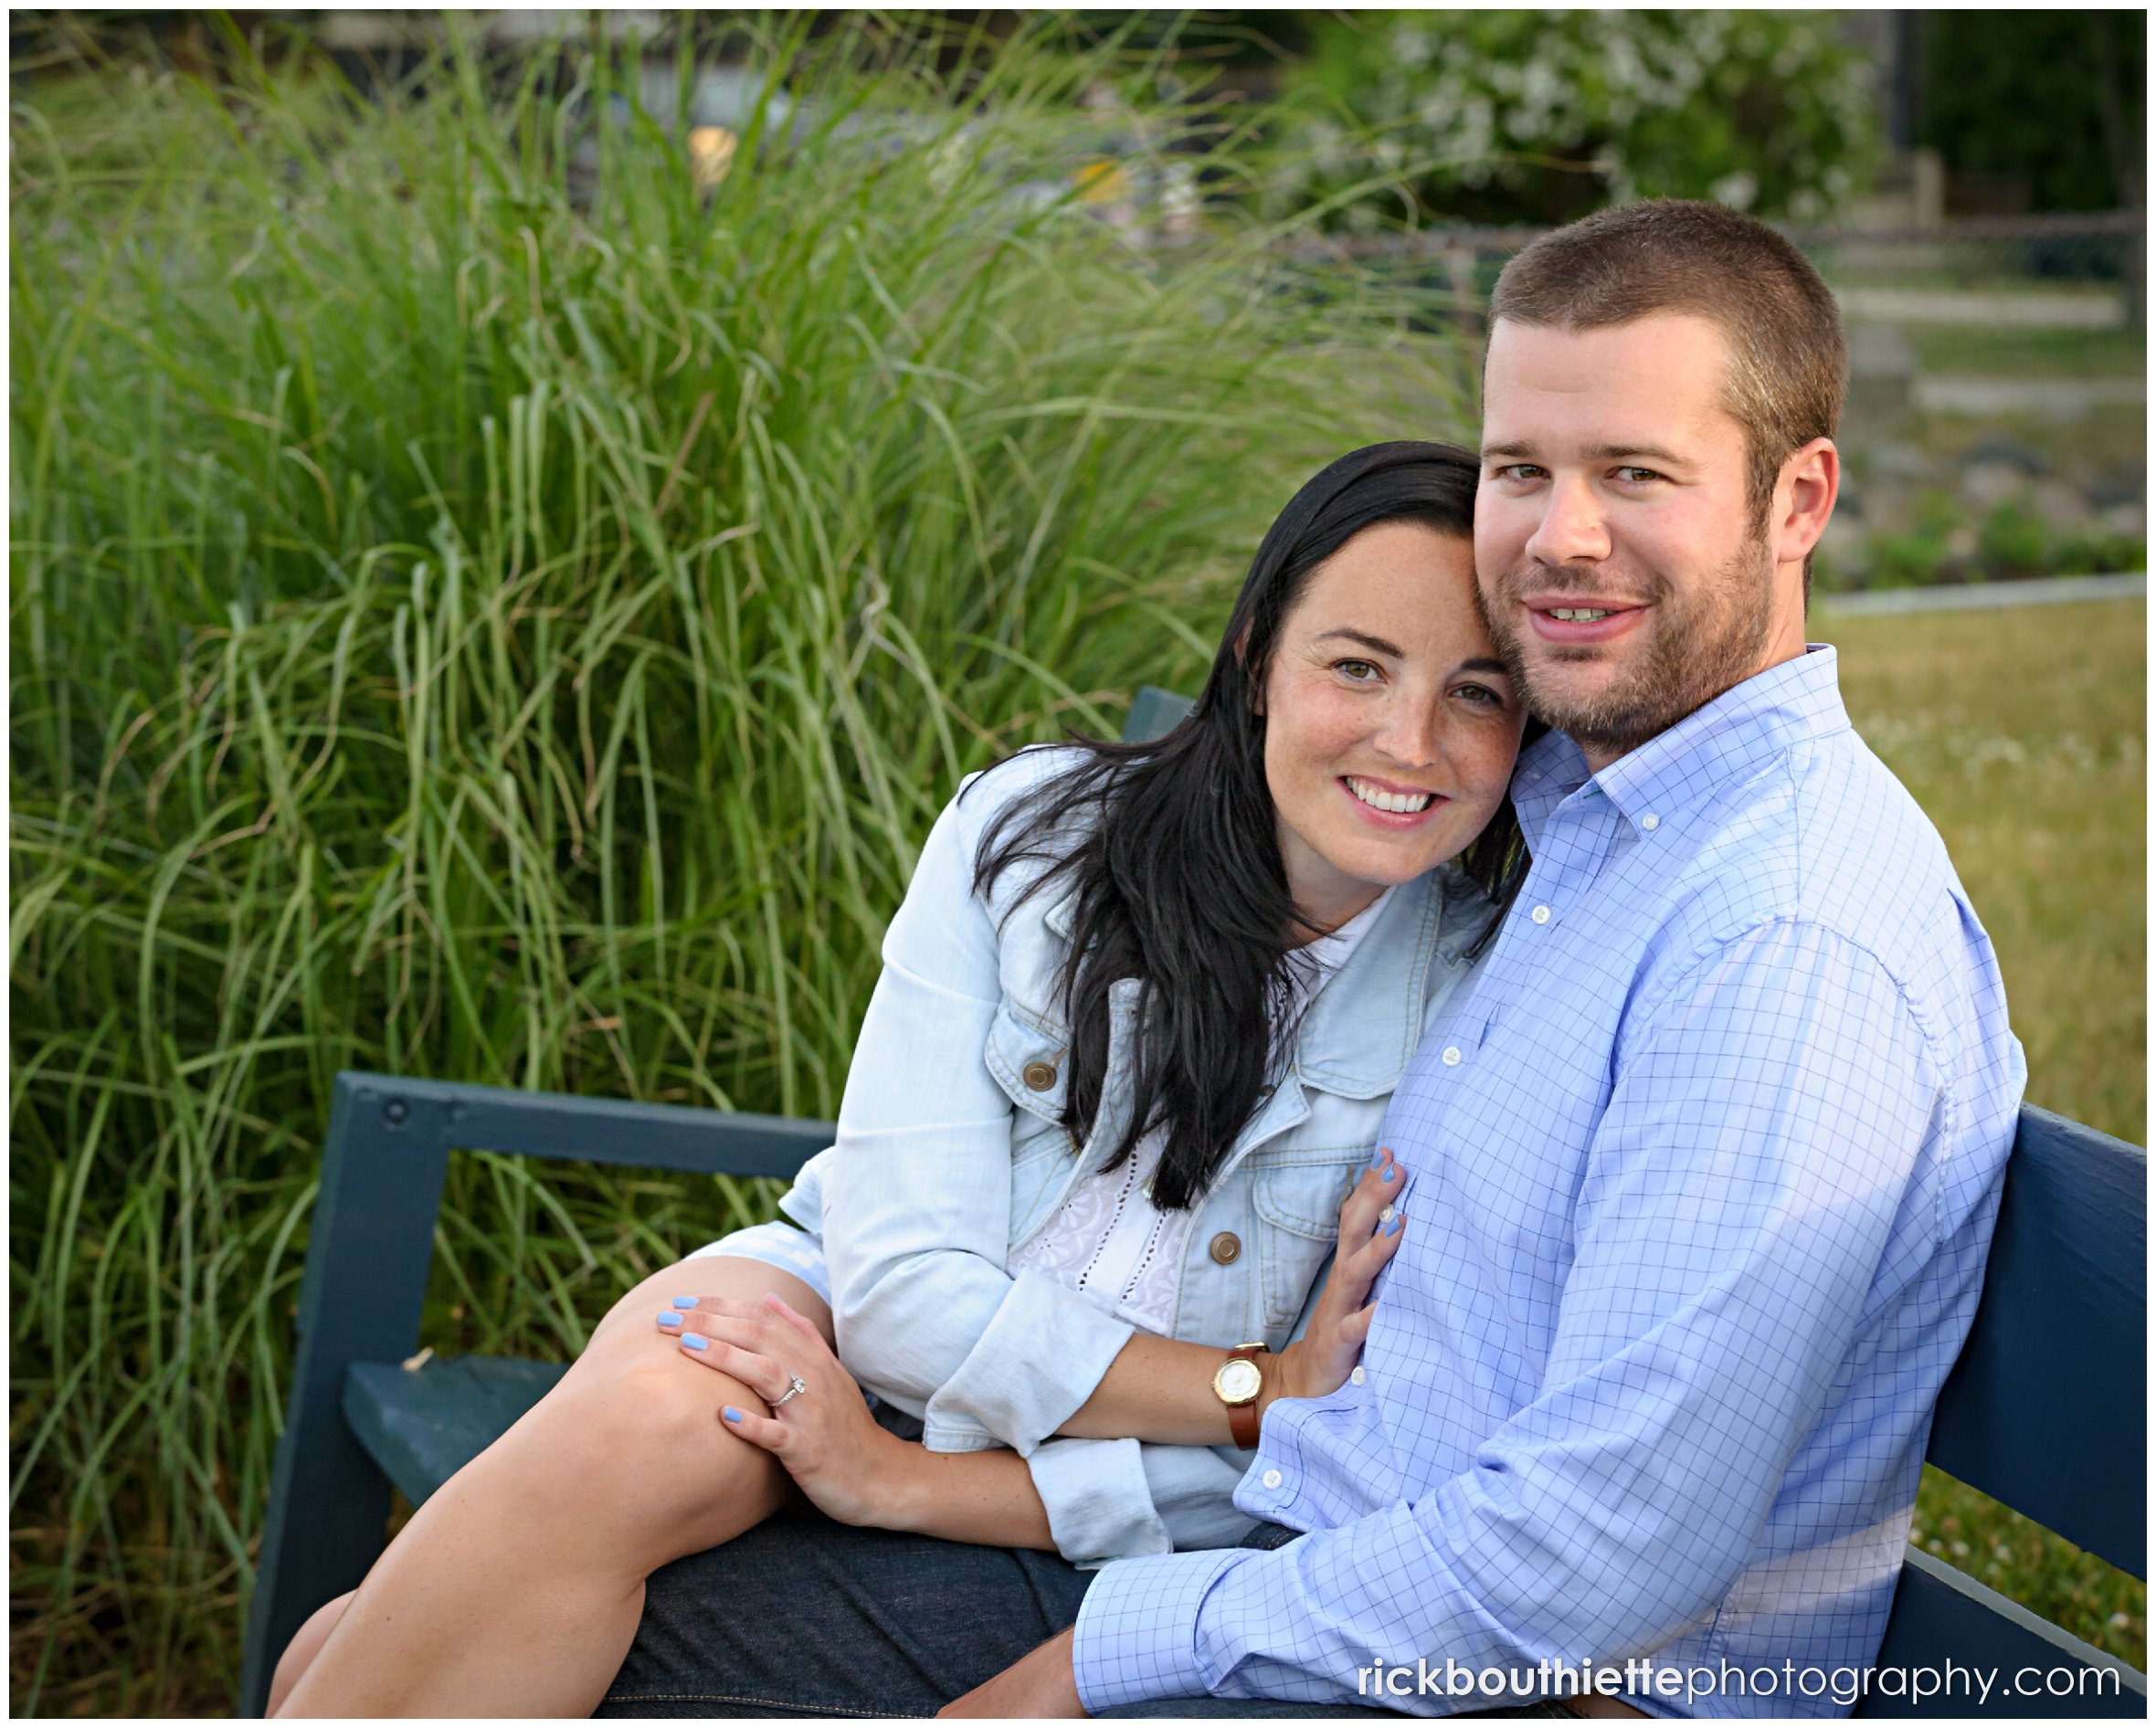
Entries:
<svg viewBox="0 0 2156 1728">
<path fill-rule="evenodd" d="M 229 1706 L 336 1069 L 832 1114 L 959 776 L 1436 429 L 1393 297 L 1102 220 L 1244 134 L 1039 34 L 763 43 L 716 185 L 619 50 L 17 80 L 17 1711 Z M 427 1342 L 768 1198 L 459 1157 Z"/>
</svg>

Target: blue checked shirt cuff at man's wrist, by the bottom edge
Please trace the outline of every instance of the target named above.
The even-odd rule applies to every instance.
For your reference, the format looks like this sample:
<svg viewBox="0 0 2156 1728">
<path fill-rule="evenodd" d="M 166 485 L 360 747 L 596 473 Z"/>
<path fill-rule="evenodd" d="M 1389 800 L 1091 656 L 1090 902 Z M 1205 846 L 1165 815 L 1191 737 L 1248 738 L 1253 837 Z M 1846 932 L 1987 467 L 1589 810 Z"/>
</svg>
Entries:
<svg viewBox="0 0 2156 1728">
<path fill-rule="evenodd" d="M 1102 1569 L 1078 1605 L 1072 1668 L 1087 1715 L 1149 1704 L 1158 1698 L 1205 1698 L 1199 1668 L 1199 1609 L 1214 1584 L 1255 1549 L 1158 1553 Z"/>
</svg>

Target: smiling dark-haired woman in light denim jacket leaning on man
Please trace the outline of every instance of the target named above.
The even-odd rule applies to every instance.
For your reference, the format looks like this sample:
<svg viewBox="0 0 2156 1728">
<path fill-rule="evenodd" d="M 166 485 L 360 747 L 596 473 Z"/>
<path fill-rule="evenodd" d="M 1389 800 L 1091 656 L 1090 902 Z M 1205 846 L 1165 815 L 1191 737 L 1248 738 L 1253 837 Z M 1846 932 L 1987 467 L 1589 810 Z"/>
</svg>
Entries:
<svg viewBox="0 0 2156 1728">
<path fill-rule="evenodd" d="M 789 1467 L 834 1517 L 1080 1564 L 1248 1530 L 1257 1422 L 1348 1377 L 1399 1243 L 1386 1097 L 1520 873 L 1475 472 L 1341 457 L 1181 726 L 959 793 L 793 1224 L 623 1297 L 300 1631 L 278 1713 L 589 1713 L 642 1579 L 768 1517 Z"/>
</svg>

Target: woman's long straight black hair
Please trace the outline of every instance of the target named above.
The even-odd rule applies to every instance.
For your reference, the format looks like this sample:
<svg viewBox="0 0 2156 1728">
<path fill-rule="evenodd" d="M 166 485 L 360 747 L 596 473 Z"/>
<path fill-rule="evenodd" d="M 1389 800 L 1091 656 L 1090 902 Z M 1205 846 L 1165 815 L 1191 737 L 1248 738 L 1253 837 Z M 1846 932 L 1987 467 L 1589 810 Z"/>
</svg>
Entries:
<svg viewBox="0 0 2156 1728">
<path fill-rule="evenodd" d="M 1059 883 L 1072 896 L 1056 983 L 1072 1032 L 1063 1127 L 1078 1144 L 1093 1133 L 1108 1069 L 1108 987 L 1141 980 L 1134 1103 L 1102 1168 L 1164 1127 L 1158 1207 L 1194 1204 L 1261 1103 L 1291 957 L 1313 935 L 1287 892 L 1255 705 L 1281 621 L 1311 571 L 1365 528 L 1423 521 L 1473 536 L 1477 468 L 1468 450 L 1421 442 L 1335 461 L 1266 530 L 1190 715 L 1147 743 L 1076 739 L 1087 761 L 981 836 L 983 894 L 1033 862 L 1046 868 L 1026 894 Z M 1526 864 L 1511 799 L 1462 864 L 1503 911 Z"/>
</svg>

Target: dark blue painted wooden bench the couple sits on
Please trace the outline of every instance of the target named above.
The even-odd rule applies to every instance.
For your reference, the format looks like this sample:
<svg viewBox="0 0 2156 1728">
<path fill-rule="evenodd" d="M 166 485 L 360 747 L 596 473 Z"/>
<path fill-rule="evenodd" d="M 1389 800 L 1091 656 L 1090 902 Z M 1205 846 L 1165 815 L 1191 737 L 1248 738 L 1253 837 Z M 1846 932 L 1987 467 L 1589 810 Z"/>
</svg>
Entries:
<svg viewBox="0 0 2156 1728">
<path fill-rule="evenodd" d="M 1125 737 L 1181 698 L 1145 689 Z M 241 1715 L 276 1657 L 382 1553 L 390 1489 L 414 1506 L 530 1409 L 558 1362 L 427 1360 L 420 1301 L 455 1151 L 791 1176 L 830 1123 L 341 1073 L 300 1286 L 300 1344 L 248 1614 Z M 1932 1424 L 1930 1461 L 2070 1543 L 2147 1575 L 2147 1155 L 2027 1107 L 1984 1301 Z M 1908 1549 L 1880 1668 L 2061 1674 L 1988 1715 L 2147 1715 L 2143 1676 Z M 2070 1685 L 2068 1685 L 2070 1683 Z M 1975 1715 L 1977 1700 L 1871 1696 L 1858 1715 Z"/>
</svg>

